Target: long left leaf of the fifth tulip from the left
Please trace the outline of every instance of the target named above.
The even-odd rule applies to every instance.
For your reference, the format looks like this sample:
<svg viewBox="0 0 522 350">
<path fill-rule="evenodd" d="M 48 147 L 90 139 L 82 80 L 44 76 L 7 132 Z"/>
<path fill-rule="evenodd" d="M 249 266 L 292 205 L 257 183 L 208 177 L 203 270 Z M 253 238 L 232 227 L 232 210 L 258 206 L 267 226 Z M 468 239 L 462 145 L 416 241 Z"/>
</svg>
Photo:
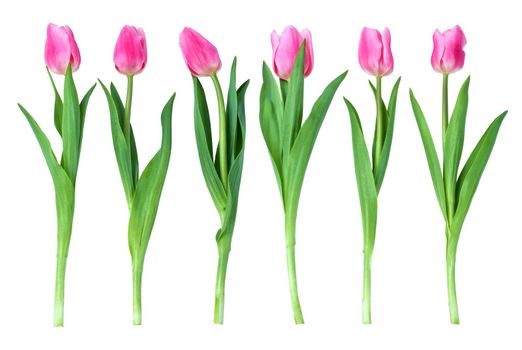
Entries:
<svg viewBox="0 0 522 350">
<path fill-rule="evenodd" d="M 377 189 L 372 172 L 370 155 L 364 140 L 361 121 L 357 111 L 346 98 L 344 99 L 350 114 L 352 126 L 353 159 L 355 165 L 355 177 L 359 190 L 359 202 L 364 231 L 364 254 L 371 256 L 375 244 L 375 231 L 377 228 Z"/>
</svg>

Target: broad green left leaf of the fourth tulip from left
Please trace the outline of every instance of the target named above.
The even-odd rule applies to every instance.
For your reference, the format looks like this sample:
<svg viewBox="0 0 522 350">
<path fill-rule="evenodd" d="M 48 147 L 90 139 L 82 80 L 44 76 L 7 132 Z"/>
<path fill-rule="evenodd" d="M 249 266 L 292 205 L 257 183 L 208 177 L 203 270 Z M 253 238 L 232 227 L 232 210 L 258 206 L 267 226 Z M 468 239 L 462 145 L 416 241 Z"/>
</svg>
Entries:
<svg viewBox="0 0 522 350">
<path fill-rule="evenodd" d="M 281 124 L 283 101 L 270 68 L 263 62 L 263 85 L 259 97 L 259 122 L 265 139 L 281 196 L 283 195 L 283 160 L 281 149 Z"/>
</svg>

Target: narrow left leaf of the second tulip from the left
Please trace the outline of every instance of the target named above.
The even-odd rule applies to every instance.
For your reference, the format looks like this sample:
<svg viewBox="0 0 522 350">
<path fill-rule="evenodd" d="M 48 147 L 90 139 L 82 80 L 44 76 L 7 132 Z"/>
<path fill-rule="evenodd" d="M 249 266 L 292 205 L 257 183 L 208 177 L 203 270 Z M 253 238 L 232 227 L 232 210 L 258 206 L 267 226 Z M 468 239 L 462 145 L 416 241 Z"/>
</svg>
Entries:
<svg viewBox="0 0 522 350">
<path fill-rule="evenodd" d="M 116 155 L 116 161 L 118 163 L 118 169 L 120 171 L 121 181 L 123 183 L 123 189 L 125 190 L 125 198 L 127 199 L 127 205 L 129 209 L 132 207 L 132 201 L 134 197 L 135 184 L 133 181 L 133 171 L 131 160 L 129 158 L 129 149 L 125 136 L 121 129 L 120 120 L 118 116 L 118 107 L 114 101 L 113 96 L 105 85 L 98 80 L 100 85 L 105 92 L 107 103 L 109 104 L 109 115 L 111 119 L 111 132 L 112 132 L 112 144 L 114 147 L 114 153 Z M 114 90 L 116 90 L 114 88 Z"/>
</svg>

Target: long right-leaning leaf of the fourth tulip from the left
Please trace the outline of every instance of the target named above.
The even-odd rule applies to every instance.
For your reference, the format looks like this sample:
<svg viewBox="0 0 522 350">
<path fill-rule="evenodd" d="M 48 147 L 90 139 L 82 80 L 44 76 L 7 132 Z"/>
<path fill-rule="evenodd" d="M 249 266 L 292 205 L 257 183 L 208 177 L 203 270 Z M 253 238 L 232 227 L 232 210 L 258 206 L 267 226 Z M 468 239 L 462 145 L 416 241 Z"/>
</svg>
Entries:
<svg viewBox="0 0 522 350">
<path fill-rule="evenodd" d="M 347 71 L 342 73 L 328 84 L 321 96 L 319 96 L 314 103 L 310 115 L 297 135 L 287 160 L 288 163 L 285 163 L 285 173 L 283 176 L 285 181 L 285 207 L 292 204 L 297 205 L 299 201 L 306 167 L 308 166 L 315 140 L 319 134 L 319 129 L 321 128 L 335 92 L 343 82 L 347 73 Z M 290 101 L 291 99 L 289 98 L 288 103 L 290 103 Z"/>
</svg>

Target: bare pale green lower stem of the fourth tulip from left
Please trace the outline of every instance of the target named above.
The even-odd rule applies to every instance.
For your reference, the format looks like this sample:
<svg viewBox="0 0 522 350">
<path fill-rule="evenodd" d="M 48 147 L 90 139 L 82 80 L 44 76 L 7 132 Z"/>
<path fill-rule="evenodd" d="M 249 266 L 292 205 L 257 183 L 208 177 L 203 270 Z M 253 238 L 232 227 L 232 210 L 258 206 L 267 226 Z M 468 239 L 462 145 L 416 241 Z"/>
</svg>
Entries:
<svg viewBox="0 0 522 350">
<path fill-rule="evenodd" d="M 301 311 L 301 303 L 299 302 L 299 293 L 297 291 L 297 273 L 295 266 L 295 222 L 296 214 L 290 211 L 285 215 L 285 234 L 286 234 L 286 264 L 288 269 L 288 285 L 290 287 L 290 298 L 292 300 L 292 309 L 294 311 L 294 320 L 296 324 L 303 324 L 303 312 Z"/>
</svg>

